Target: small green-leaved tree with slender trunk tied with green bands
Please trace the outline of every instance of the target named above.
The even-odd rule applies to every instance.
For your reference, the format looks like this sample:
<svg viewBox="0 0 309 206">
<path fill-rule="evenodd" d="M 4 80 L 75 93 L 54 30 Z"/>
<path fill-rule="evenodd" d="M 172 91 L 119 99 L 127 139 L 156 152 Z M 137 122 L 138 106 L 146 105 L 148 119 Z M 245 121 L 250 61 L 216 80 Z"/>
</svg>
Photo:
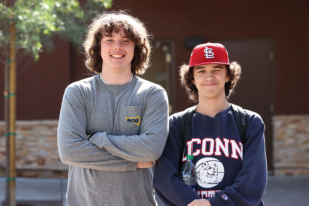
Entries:
<svg viewBox="0 0 309 206">
<path fill-rule="evenodd" d="M 93 12 L 111 8 L 112 0 L 4 0 L 0 2 L 0 62 L 4 65 L 4 110 L 7 137 L 6 204 L 16 205 L 15 198 L 15 120 L 16 67 L 23 57 L 28 63 L 40 53 L 53 48 L 53 36 L 68 40 L 81 48 L 85 22 Z"/>
</svg>

